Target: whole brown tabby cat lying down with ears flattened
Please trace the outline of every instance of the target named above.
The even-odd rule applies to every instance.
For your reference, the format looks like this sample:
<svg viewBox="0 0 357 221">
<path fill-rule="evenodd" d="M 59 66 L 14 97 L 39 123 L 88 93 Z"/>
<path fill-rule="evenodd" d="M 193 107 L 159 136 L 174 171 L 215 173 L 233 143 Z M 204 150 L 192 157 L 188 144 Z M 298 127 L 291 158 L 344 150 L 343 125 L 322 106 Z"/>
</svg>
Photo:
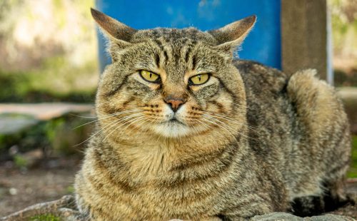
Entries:
<svg viewBox="0 0 357 221">
<path fill-rule="evenodd" d="M 246 220 L 347 199 L 350 135 L 334 89 L 313 70 L 233 60 L 255 16 L 202 32 L 136 30 L 91 12 L 113 63 L 76 175 L 86 217 Z"/>
</svg>

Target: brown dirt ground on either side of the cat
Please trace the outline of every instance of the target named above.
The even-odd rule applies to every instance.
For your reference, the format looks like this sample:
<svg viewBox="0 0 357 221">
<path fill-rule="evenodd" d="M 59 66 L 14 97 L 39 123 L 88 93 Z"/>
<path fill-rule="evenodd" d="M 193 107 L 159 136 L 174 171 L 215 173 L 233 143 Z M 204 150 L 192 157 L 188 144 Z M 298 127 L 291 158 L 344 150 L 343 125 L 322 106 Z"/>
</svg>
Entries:
<svg viewBox="0 0 357 221">
<path fill-rule="evenodd" d="M 79 170 L 79 158 L 47 160 L 36 168 L 19 170 L 11 162 L 0 164 L 0 217 L 39 202 L 58 200 L 74 191 L 74 175 Z M 357 180 L 348 183 L 357 201 Z M 357 204 L 332 212 L 357 218 Z"/>
</svg>

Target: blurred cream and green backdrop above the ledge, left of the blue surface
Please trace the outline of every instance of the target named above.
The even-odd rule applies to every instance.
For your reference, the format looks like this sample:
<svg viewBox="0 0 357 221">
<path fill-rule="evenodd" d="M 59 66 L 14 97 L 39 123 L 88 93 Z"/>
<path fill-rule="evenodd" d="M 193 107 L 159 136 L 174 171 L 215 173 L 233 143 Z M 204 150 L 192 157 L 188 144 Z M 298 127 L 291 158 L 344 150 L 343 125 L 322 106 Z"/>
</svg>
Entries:
<svg viewBox="0 0 357 221">
<path fill-rule="evenodd" d="M 0 102 L 93 102 L 94 0 L 0 1 Z"/>
</svg>

